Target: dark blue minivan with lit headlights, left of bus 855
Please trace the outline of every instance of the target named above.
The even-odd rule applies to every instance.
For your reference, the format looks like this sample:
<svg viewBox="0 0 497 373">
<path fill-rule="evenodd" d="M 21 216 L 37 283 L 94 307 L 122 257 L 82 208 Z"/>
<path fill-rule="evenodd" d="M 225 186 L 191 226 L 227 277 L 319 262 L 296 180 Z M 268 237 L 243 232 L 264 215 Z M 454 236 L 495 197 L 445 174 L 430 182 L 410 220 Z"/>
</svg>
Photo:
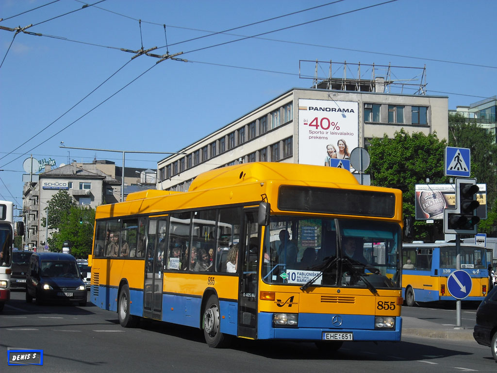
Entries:
<svg viewBox="0 0 497 373">
<path fill-rule="evenodd" d="M 70 254 L 34 253 L 26 276 L 26 302 L 77 302 L 86 305 L 86 286 L 76 259 Z"/>
</svg>

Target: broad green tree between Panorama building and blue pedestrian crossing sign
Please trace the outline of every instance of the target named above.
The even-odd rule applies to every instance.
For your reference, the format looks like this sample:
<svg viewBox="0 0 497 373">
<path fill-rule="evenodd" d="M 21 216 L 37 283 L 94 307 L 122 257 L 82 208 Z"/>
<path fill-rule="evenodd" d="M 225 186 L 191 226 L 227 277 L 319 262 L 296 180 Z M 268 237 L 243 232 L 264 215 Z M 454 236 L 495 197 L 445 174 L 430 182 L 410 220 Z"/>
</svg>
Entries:
<svg viewBox="0 0 497 373">
<path fill-rule="evenodd" d="M 407 133 L 404 128 L 396 131 L 393 138 L 385 134 L 371 139 L 368 152 L 371 158 L 369 173 L 371 184 L 402 190 L 404 216 L 415 216 L 415 184 L 448 183 L 444 176 L 443 155 L 445 140 L 436 133 Z M 443 235 L 443 221 L 435 220 L 431 227 L 424 221 L 414 222 L 414 236 L 434 240 Z"/>
</svg>

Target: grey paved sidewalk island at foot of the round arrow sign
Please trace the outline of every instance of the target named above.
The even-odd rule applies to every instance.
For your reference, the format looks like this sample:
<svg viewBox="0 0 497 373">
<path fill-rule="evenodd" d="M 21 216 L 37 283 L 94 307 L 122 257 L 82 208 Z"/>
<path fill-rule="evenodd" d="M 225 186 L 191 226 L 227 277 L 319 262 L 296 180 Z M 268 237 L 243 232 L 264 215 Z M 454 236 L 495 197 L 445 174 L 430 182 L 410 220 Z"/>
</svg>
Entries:
<svg viewBox="0 0 497 373">
<path fill-rule="evenodd" d="M 402 335 L 428 338 L 447 338 L 452 341 L 475 341 L 473 329 L 454 329 L 415 317 L 402 316 Z"/>
</svg>

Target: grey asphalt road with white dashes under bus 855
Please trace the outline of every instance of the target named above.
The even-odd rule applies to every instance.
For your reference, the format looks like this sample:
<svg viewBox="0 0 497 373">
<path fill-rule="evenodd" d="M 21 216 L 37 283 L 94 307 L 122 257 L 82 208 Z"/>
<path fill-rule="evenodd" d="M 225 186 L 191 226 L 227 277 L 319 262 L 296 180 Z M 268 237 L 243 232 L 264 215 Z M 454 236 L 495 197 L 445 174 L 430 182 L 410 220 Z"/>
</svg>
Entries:
<svg viewBox="0 0 497 373">
<path fill-rule="evenodd" d="M 446 310 L 427 310 L 444 315 Z M 407 311 L 406 311 L 407 312 Z M 413 308 L 409 312 L 425 312 Z M 431 313 L 433 312 L 433 314 Z M 403 312 L 404 313 L 404 312 Z M 414 316 L 410 316 L 414 317 Z M 441 319 L 443 320 L 441 316 Z M 43 366 L 12 367 L 7 348 L 42 349 Z M 402 342 L 346 342 L 336 353 L 312 343 L 237 339 L 210 349 L 200 330 L 160 322 L 124 329 L 114 312 L 91 303 L 27 304 L 12 293 L 0 314 L 1 372 L 496 372 L 490 348 L 475 341 L 403 336 Z"/>
</svg>

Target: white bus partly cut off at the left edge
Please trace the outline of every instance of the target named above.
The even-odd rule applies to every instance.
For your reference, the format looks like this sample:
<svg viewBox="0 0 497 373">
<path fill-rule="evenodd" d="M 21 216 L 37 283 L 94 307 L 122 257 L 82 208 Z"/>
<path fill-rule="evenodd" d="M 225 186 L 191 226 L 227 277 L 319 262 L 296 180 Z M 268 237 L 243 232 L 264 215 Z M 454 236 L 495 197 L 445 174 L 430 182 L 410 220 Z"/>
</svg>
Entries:
<svg viewBox="0 0 497 373">
<path fill-rule="evenodd" d="M 24 234 L 24 223 L 15 224 L 15 233 Z M 14 240 L 14 205 L 0 201 L 0 311 L 10 299 L 10 274 L 12 273 L 12 243 Z"/>
</svg>

